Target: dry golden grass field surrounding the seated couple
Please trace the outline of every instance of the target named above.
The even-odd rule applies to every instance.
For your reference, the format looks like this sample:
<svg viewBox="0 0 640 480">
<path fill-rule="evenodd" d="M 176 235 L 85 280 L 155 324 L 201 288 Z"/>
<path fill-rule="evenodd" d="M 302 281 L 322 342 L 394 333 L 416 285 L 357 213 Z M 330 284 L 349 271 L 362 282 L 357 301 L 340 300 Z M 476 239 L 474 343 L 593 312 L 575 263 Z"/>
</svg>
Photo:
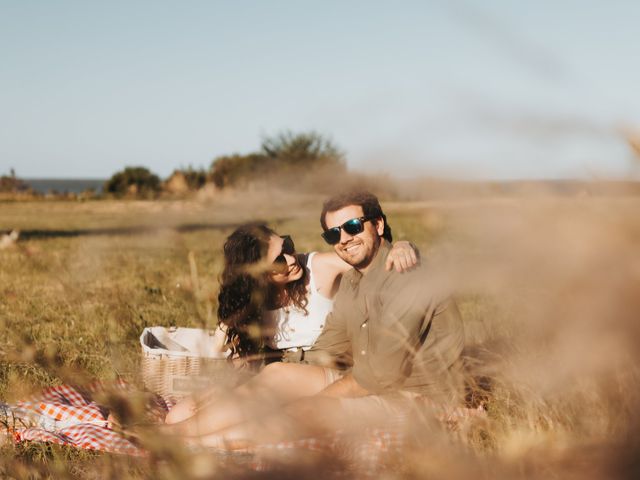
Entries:
<svg viewBox="0 0 640 480">
<path fill-rule="evenodd" d="M 292 234 L 300 251 L 325 249 L 318 235 L 321 200 L 271 191 L 206 202 L 1 203 L 0 230 L 40 233 L 0 250 L 0 398 L 115 376 L 140 384 L 144 327 L 215 323 L 221 246 L 233 227 L 263 219 Z M 469 363 L 476 378 L 491 379 L 484 423 L 457 434 L 419 431 L 402 467 L 389 475 L 624 478 L 636 472 L 640 197 L 383 206 L 397 239 L 414 241 L 427 258 L 449 258 L 443 278 L 461 290 Z M 149 230 L 130 230 L 141 225 Z M 9 444 L 0 451 L 0 474 L 248 475 L 179 449 L 155 452 L 141 460 Z"/>
</svg>

